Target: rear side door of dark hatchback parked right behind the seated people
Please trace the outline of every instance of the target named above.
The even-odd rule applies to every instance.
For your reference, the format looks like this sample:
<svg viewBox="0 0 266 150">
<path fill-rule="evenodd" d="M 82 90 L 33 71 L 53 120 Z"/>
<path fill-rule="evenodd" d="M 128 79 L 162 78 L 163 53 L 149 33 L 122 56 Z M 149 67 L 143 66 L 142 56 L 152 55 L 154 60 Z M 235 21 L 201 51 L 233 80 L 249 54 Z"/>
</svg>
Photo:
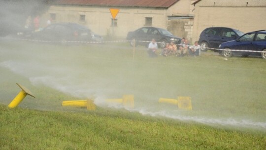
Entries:
<svg viewBox="0 0 266 150">
<path fill-rule="evenodd" d="M 209 41 L 209 47 L 211 48 L 218 48 L 219 44 L 221 44 L 221 28 L 212 28 L 208 34 L 207 38 Z"/>
</svg>

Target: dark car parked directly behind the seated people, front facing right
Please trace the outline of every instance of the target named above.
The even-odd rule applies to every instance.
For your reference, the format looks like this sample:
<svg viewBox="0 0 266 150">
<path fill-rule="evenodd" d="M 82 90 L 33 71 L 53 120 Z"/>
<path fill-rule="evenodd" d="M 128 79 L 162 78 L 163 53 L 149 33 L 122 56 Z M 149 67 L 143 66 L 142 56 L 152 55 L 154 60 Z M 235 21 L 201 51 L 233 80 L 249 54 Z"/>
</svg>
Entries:
<svg viewBox="0 0 266 150">
<path fill-rule="evenodd" d="M 173 36 L 169 31 L 161 28 L 155 27 L 142 27 L 133 32 L 129 32 L 127 35 L 127 40 L 130 40 L 130 44 L 133 46 L 133 40 L 135 40 L 135 45 L 142 44 L 148 45 L 152 38 L 155 38 L 157 42 L 161 42 L 158 44 L 159 47 L 164 48 L 166 43 L 170 43 L 170 41 L 174 41 L 175 44 L 181 43 L 181 38 Z M 146 42 L 141 42 L 146 41 Z"/>
</svg>

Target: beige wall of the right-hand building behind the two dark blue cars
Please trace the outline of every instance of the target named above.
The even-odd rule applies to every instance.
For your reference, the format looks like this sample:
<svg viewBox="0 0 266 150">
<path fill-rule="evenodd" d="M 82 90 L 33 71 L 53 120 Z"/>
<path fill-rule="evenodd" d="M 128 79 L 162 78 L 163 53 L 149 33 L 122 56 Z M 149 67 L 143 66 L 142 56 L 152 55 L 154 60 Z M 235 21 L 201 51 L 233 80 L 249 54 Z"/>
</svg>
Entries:
<svg viewBox="0 0 266 150">
<path fill-rule="evenodd" d="M 200 0 L 195 5 L 193 41 L 207 27 L 242 32 L 266 29 L 266 0 Z"/>
</svg>

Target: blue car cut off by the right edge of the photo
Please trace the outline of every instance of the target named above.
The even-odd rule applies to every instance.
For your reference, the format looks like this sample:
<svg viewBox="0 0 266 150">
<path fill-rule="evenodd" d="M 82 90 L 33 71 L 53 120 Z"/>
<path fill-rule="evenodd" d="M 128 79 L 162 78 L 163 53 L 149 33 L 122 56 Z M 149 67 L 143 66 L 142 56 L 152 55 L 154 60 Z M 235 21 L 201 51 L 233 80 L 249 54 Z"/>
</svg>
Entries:
<svg viewBox="0 0 266 150">
<path fill-rule="evenodd" d="M 233 55 L 257 55 L 266 59 L 266 30 L 254 31 L 244 34 L 235 40 L 224 42 L 219 45 L 219 53 L 225 57 L 232 57 Z M 238 50 L 238 51 L 234 51 Z M 239 51 L 249 50 L 249 51 Z M 262 52 L 252 52 L 262 51 Z"/>
</svg>

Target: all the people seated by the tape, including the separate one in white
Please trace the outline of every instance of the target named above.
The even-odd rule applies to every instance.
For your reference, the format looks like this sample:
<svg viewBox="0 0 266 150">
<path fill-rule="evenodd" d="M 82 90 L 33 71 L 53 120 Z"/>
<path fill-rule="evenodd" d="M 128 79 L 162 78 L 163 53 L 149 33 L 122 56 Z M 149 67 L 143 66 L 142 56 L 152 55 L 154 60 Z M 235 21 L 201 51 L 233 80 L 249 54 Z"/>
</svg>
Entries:
<svg viewBox="0 0 266 150">
<path fill-rule="evenodd" d="M 177 48 L 178 47 L 178 48 Z M 150 57 L 157 57 L 156 50 L 158 49 L 157 43 L 155 39 L 152 39 L 148 46 L 148 54 Z M 166 43 L 166 47 L 162 49 L 160 55 L 169 56 L 175 55 L 179 57 L 183 57 L 185 55 L 188 56 L 199 56 L 200 46 L 198 41 L 195 41 L 194 45 L 189 45 L 189 42 L 186 38 L 182 38 L 180 44 L 174 44 L 174 41 L 170 43 Z"/>
</svg>

